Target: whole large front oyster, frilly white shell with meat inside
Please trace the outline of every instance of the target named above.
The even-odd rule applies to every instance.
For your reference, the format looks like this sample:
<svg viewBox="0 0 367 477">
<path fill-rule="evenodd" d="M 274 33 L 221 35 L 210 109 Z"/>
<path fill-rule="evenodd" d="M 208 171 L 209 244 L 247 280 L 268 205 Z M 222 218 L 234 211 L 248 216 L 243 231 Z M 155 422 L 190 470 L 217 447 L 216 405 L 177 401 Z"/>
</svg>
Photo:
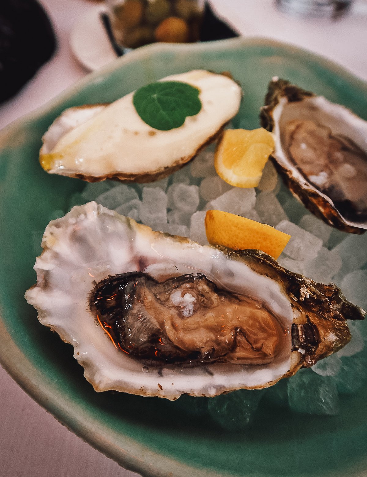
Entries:
<svg viewBox="0 0 367 477">
<path fill-rule="evenodd" d="M 214 396 L 235 389 L 267 387 L 296 373 L 302 366 L 311 366 L 336 352 L 350 340 L 346 319 L 363 318 L 363 311 L 346 301 L 334 285 L 318 284 L 289 272 L 263 252 L 229 252 L 201 246 L 190 239 L 154 232 L 95 202 L 73 207 L 65 217 L 51 221 L 43 235 L 42 247 L 44 250 L 34 267 L 37 283 L 26 292 L 26 299 L 38 310 L 42 324 L 74 346 L 74 357 L 84 367 L 84 376 L 96 391 L 114 389 L 176 399 L 183 393 Z M 194 278 L 187 279 L 192 274 Z M 194 286 L 195 280 L 203 280 L 201 274 L 215 285 L 202 281 Z M 120 276 L 116 278 L 116 275 Z M 129 284 L 122 285 L 126 277 L 129 277 Z M 114 307 L 111 309 L 108 303 L 114 304 L 116 300 L 116 286 L 125 291 L 127 286 L 131 291 L 138 277 L 150 284 L 142 285 L 140 295 L 133 297 L 126 293 L 127 300 L 118 300 L 117 311 Z M 202 293 L 202 287 L 212 288 L 212 291 Z M 245 341 L 251 343 L 253 364 L 237 359 L 235 340 L 230 351 L 212 350 L 224 345 L 225 341 L 218 345 L 215 336 L 216 344 L 209 347 L 208 354 L 206 350 L 197 353 L 197 349 L 193 354 L 194 348 L 190 345 L 186 356 L 183 352 L 171 359 L 168 353 L 158 356 L 154 364 L 152 349 L 145 355 L 148 363 L 142 356 L 145 350 L 136 356 L 128 353 L 129 346 L 136 340 L 158 349 L 159 339 L 165 343 L 163 346 L 168 343 L 165 340 L 172 339 L 172 349 L 174 342 L 180 342 L 179 348 L 185 351 L 190 339 L 183 335 L 184 326 L 178 332 L 172 330 L 177 321 L 185 319 L 185 314 L 190 318 L 190 326 L 194 317 L 198 318 L 197 334 L 212 332 L 215 335 L 218 323 L 202 326 L 208 313 L 203 311 L 198 299 L 200 293 L 203 300 L 221 302 L 218 307 L 221 318 L 226 315 L 223 318 L 232 320 L 231 323 L 224 321 L 224 328 L 220 325 L 223 334 L 230 339 L 231 332 L 235 332 L 241 338 L 240 344 L 244 345 L 239 350 L 241 353 L 246 347 Z M 234 305 L 229 304 L 232 295 L 236 297 Z M 144 309 L 139 308 L 141 302 L 137 301 L 142 296 L 147 304 Z M 237 306 L 239 301 L 249 299 L 257 311 L 265 310 L 264 316 L 268 320 L 261 327 L 254 327 L 254 334 L 248 330 L 244 332 L 245 325 L 241 323 L 234 326 L 235 316 L 233 311 L 228 311 L 228 306 Z M 99 300 L 101 305 L 96 305 Z M 153 302 L 157 305 L 155 311 L 151 306 Z M 164 311 L 167 306 L 163 305 L 167 303 L 169 312 Z M 124 307 L 137 312 L 133 311 L 126 318 Z M 111 322 L 116 321 L 114 312 L 122 316 L 122 321 L 112 330 Z M 146 327 L 142 326 L 142 319 Z M 166 319 L 167 323 L 164 323 Z M 98 322 L 101 326 L 96 326 Z M 159 327 L 165 327 L 165 334 L 159 335 Z M 275 330 L 270 333 L 274 345 L 264 343 L 269 351 L 264 350 L 259 362 L 257 353 L 262 347 L 254 341 L 254 336 L 265 328 Z M 112 333 L 126 335 L 126 330 L 130 330 L 127 340 L 119 346 L 120 341 L 116 341 Z M 136 330 L 138 334 L 133 336 Z M 145 338 L 143 335 L 148 335 L 148 331 L 150 337 Z M 200 341 L 194 333 L 191 338 Z M 247 346 L 247 351 L 251 345 Z M 201 346 L 199 342 L 200 350 Z"/>
</svg>

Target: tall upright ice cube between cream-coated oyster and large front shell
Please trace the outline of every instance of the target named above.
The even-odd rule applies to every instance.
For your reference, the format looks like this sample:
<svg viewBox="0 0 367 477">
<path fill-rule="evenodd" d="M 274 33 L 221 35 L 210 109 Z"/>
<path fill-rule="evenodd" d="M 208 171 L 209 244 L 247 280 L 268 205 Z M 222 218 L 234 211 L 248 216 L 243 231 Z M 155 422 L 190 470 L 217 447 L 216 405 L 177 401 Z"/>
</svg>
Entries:
<svg viewBox="0 0 367 477">
<path fill-rule="evenodd" d="M 167 196 L 159 187 L 145 187 L 140 206 L 140 220 L 157 230 L 167 223 Z"/>
</svg>

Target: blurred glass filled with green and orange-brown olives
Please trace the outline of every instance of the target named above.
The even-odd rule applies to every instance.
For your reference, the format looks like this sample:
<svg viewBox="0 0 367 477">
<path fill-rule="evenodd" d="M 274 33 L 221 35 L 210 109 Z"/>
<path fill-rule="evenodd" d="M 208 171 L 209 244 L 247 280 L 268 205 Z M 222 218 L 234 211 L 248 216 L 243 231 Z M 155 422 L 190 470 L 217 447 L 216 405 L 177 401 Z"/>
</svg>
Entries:
<svg viewBox="0 0 367 477">
<path fill-rule="evenodd" d="M 137 48 L 155 41 L 198 41 L 204 0 L 106 0 L 115 39 Z"/>
</svg>

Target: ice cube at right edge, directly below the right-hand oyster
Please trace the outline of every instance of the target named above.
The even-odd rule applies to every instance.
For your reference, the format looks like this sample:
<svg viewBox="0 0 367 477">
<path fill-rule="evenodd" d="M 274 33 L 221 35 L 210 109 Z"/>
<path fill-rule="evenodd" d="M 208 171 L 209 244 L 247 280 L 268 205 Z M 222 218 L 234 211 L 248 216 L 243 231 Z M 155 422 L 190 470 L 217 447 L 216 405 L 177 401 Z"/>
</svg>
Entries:
<svg viewBox="0 0 367 477">
<path fill-rule="evenodd" d="M 367 233 L 364 235 L 349 234 L 333 250 L 342 259 L 342 270 L 345 274 L 358 270 L 367 263 Z"/>
</svg>

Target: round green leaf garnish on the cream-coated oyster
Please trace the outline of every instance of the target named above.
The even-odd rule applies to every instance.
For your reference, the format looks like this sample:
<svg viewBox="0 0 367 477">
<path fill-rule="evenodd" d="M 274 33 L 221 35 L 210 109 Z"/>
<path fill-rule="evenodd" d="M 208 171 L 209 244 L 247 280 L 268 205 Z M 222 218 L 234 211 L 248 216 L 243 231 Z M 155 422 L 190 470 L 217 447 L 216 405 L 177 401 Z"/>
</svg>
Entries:
<svg viewBox="0 0 367 477">
<path fill-rule="evenodd" d="M 159 81 L 135 91 L 133 105 L 144 123 L 160 131 L 184 124 L 202 108 L 200 91 L 180 81 Z"/>
</svg>

